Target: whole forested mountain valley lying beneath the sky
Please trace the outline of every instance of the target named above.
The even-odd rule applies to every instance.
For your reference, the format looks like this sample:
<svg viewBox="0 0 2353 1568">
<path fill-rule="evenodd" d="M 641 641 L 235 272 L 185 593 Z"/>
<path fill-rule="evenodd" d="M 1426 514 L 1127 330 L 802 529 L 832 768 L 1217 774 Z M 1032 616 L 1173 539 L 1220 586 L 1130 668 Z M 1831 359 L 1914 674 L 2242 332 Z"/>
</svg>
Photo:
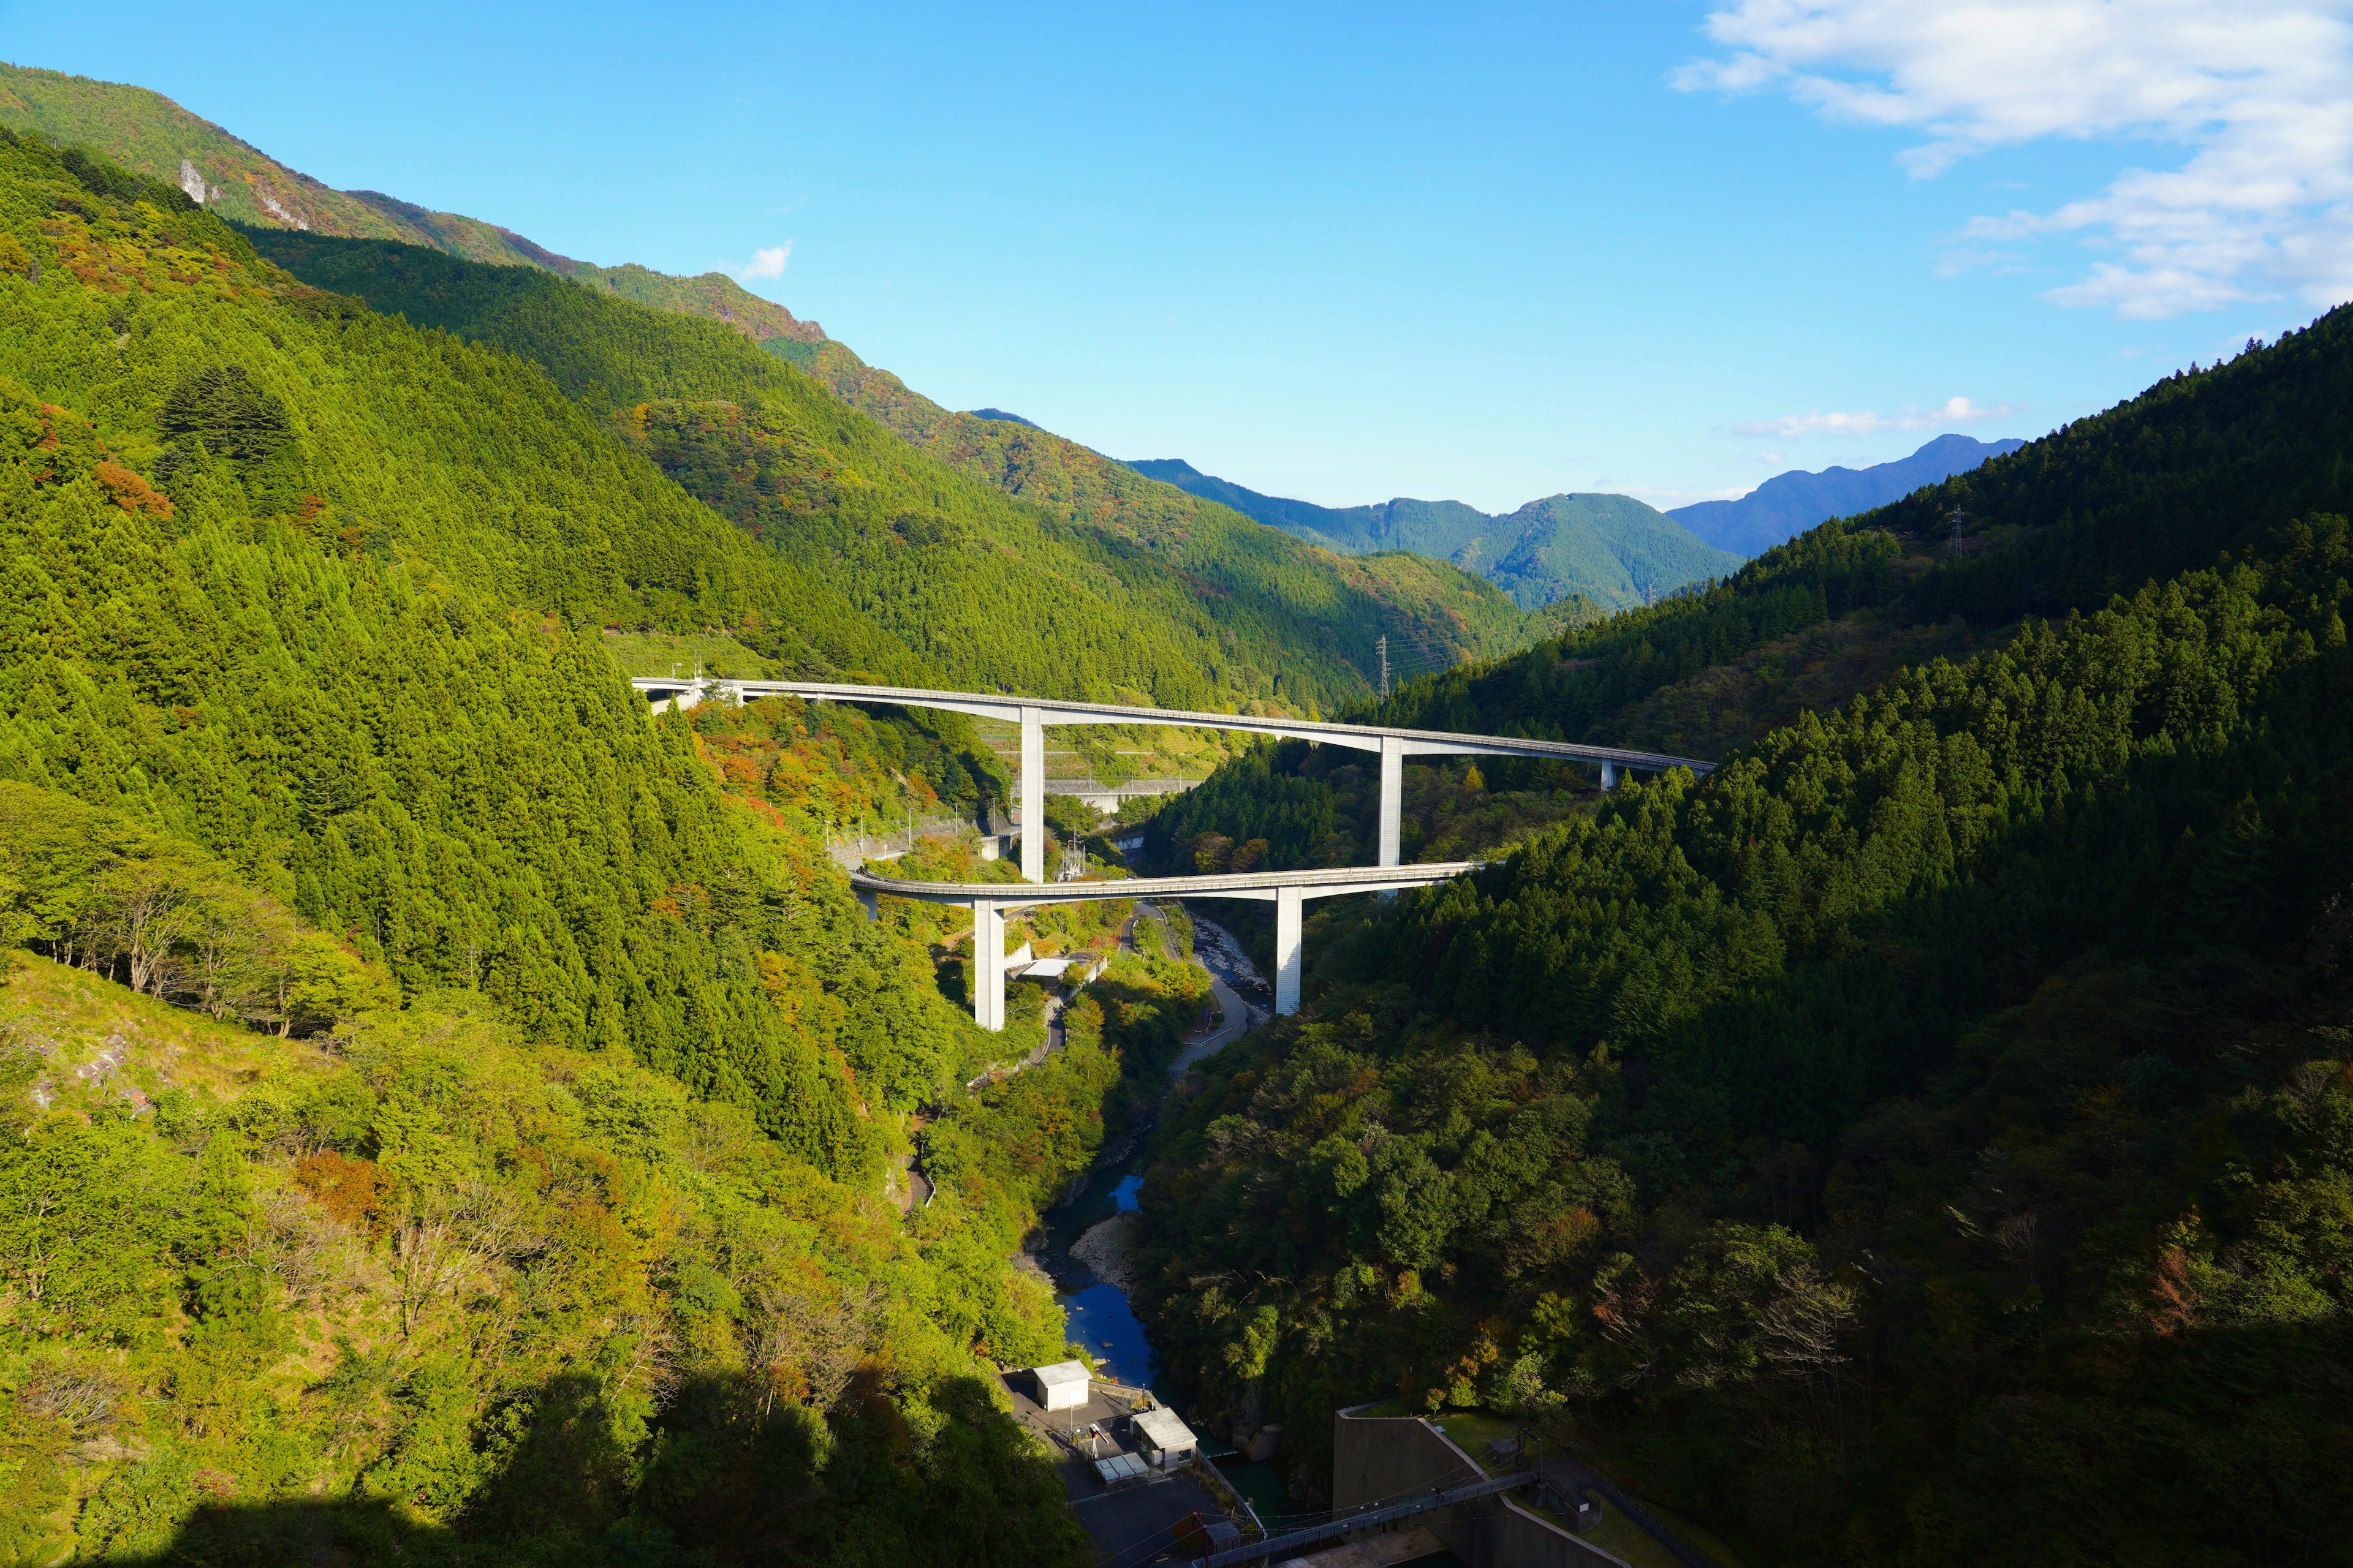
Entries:
<svg viewBox="0 0 2353 1568">
<path fill-rule="evenodd" d="M 0 1563 L 2353 1561 L 2353 306 L 2000 447 L 1311 508 L 0 68 Z"/>
</svg>

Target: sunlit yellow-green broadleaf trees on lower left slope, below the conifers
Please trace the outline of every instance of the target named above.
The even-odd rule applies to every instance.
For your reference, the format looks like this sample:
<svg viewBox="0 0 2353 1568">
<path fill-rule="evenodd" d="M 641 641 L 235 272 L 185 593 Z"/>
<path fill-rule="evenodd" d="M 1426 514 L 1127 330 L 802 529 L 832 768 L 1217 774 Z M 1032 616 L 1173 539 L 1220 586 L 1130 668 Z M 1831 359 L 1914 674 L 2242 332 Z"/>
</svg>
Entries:
<svg viewBox="0 0 2353 1568">
<path fill-rule="evenodd" d="M 16 1556 L 1078 1561 L 974 1359 L 1059 1354 L 1045 1288 L 736 1107 L 464 997 L 322 1048 L 26 957 L 0 1079 Z"/>
</svg>

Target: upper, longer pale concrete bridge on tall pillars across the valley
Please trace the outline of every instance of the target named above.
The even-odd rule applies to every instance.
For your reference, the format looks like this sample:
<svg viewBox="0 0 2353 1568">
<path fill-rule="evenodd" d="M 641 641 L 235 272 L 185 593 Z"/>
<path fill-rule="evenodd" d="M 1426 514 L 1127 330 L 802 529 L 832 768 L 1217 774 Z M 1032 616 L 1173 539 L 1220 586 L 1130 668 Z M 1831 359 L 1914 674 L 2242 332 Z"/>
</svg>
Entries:
<svg viewBox="0 0 2353 1568">
<path fill-rule="evenodd" d="M 1525 741 L 1520 736 L 1457 736 L 1440 729 L 1391 729 L 1381 724 L 1334 724 L 1329 719 L 1275 719 L 1247 712 L 1191 712 L 1184 708 L 1127 708 L 1122 703 L 1075 703 L 1066 698 L 988 696 L 984 691 L 932 691 L 925 686 L 864 686 L 854 682 L 755 682 L 664 679 L 631 682 L 654 701 L 673 698 L 692 708 L 706 696 L 741 703 L 758 696 L 798 696 L 816 703 L 885 703 L 889 708 L 944 708 L 1021 726 L 1021 877 L 1045 882 L 1045 726 L 1047 724 L 1174 724 L 1226 729 L 1282 741 L 1318 741 L 1374 752 L 1381 759 L 1381 865 L 1398 865 L 1407 757 L 1551 757 L 1598 762 L 1602 788 L 1617 785 L 1619 769 L 1664 773 L 1666 769 L 1713 771 L 1713 762 L 1633 752 L 1614 745 Z M 1188 877 L 1186 882 L 1205 882 Z M 1205 889 L 1195 889 L 1202 893 Z M 1231 893 L 1228 893 L 1231 896 Z"/>
</svg>

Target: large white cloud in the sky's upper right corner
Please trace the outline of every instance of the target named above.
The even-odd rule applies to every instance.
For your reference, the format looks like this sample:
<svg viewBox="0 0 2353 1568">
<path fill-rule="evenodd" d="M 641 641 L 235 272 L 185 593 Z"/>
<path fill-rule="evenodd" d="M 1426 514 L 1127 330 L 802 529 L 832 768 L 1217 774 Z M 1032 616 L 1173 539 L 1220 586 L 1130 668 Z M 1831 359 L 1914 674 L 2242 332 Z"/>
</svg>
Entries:
<svg viewBox="0 0 2353 1568">
<path fill-rule="evenodd" d="M 1831 120 L 1915 129 L 1927 179 L 2047 136 L 2186 155 L 2054 212 L 1981 216 L 1946 270 L 2014 263 L 1988 242 L 2075 235 L 2113 259 L 2045 294 L 2125 317 L 2353 296 L 2353 0 L 1729 0 L 1727 54 L 1682 89 L 1786 92 Z"/>
</svg>

